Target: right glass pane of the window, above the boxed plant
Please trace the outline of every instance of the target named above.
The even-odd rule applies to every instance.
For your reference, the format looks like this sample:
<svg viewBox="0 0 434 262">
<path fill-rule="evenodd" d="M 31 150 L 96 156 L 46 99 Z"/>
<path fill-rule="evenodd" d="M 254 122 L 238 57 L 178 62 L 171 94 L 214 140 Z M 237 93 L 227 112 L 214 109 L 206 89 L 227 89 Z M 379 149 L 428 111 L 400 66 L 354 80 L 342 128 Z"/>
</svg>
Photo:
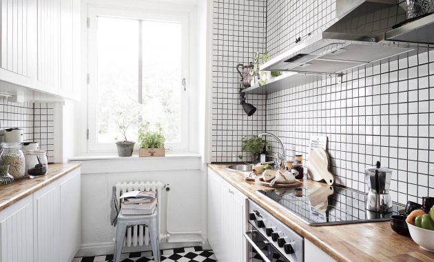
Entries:
<svg viewBox="0 0 434 262">
<path fill-rule="evenodd" d="M 166 143 L 180 143 L 181 24 L 143 21 L 143 121 L 160 123 Z"/>
</svg>

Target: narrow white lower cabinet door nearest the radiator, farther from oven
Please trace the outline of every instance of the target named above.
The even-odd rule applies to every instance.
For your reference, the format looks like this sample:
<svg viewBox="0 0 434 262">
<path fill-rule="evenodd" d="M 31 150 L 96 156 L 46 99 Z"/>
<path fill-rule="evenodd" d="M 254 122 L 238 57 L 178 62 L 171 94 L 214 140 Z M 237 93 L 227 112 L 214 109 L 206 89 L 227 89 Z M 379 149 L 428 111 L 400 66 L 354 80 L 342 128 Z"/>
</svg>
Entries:
<svg viewBox="0 0 434 262">
<path fill-rule="evenodd" d="M 221 240 L 221 210 L 220 210 L 220 177 L 212 170 L 208 169 L 208 210 L 207 210 L 207 225 L 208 225 L 208 241 L 212 250 L 220 261 L 222 253 Z"/>
</svg>

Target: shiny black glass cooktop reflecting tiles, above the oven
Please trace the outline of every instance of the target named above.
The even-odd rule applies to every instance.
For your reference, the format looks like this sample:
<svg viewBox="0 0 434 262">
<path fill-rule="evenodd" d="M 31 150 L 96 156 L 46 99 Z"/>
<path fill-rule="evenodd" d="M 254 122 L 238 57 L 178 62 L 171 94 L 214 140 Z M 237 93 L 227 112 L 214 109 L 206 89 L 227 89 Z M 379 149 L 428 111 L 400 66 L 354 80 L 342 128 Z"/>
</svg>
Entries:
<svg viewBox="0 0 434 262">
<path fill-rule="evenodd" d="M 258 190 L 276 201 L 308 225 L 337 225 L 387 221 L 393 214 L 403 210 L 404 205 L 393 203 L 393 212 L 371 212 L 365 208 L 366 194 L 339 187 L 302 188 L 296 196 L 295 188 Z M 300 195 L 300 194 L 298 194 Z"/>
</svg>

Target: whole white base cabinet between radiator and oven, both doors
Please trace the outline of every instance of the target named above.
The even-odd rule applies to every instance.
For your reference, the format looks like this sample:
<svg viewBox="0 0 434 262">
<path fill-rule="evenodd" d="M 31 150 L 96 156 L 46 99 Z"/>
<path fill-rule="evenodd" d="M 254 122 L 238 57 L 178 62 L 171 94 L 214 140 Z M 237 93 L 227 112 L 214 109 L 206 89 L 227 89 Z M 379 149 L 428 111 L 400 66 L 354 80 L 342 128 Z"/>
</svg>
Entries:
<svg viewBox="0 0 434 262">
<path fill-rule="evenodd" d="M 218 261 L 245 261 L 247 196 L 208 169 L 208 201 L 209 244 Z"/>
</svg>

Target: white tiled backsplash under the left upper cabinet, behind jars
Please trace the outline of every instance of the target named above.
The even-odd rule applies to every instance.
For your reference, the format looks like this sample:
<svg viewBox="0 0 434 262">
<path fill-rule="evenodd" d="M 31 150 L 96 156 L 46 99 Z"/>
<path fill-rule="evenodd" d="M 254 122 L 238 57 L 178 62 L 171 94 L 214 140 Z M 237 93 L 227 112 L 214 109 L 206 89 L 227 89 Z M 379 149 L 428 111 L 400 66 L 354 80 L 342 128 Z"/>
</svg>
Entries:
<svg viewBox="0 0 434 262">
<path fill-rule="evenodd" d="M 23 128 L 24 141 L 39 142 L 39 148 L 47 150 L 48 161 L 54 161 L 54 103 L 13 103 L 0 98 L 0 128 Z"/>
</svg>

